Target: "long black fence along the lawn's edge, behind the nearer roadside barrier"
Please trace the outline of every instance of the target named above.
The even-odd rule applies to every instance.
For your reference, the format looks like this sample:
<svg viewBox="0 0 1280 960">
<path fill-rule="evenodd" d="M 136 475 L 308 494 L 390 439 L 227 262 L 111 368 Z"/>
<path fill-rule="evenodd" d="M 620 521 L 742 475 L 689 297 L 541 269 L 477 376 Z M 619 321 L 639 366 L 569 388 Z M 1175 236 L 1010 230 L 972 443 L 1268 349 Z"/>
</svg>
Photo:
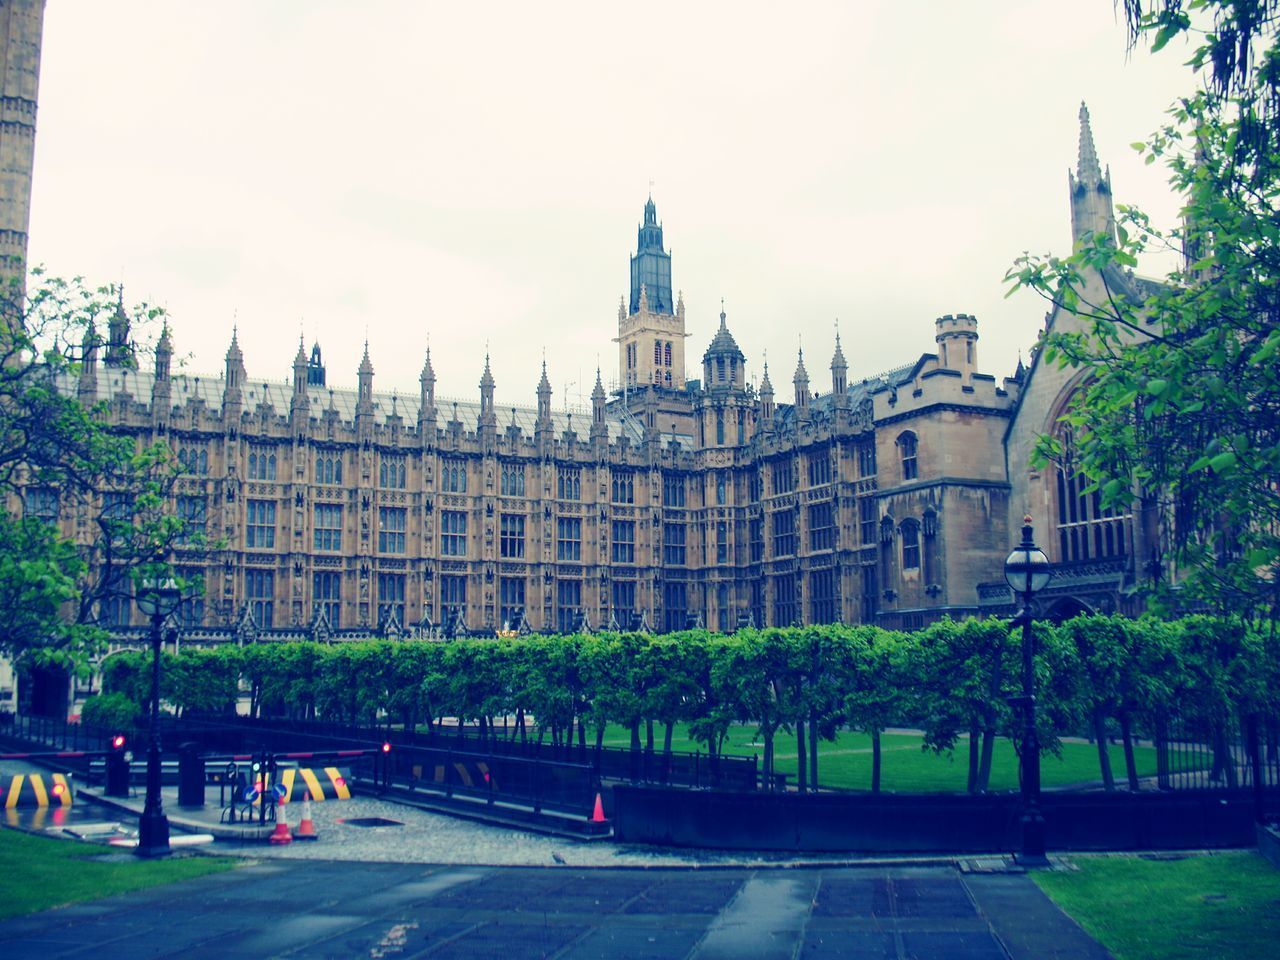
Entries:
<svg viewBox="0 0 1280 960">
<path fill-rule="evenodd" d="M 274 736 L 280 731 L 288 731 L 291 736 L 303 737 L 303 742 L 334 737 L 351 741 L 376 740 L 394 744 L 398 749 L 413 746 L 454 753 L 502 755 L 540 763 L 586 765 L 602 780 L 721 790 L 755 790 L 759 782 L 759 764 L 755 756 L 732 754 L 709 756 L 699 751 L 671 751 L 669 754 L 662 750 L 632 751 L 616 746 L 596 749 L 593 744 L 585 746 L 554 745 L 540 741 L 536 736 L 521 737 L 515 727 L 508 731 L 503 731 L 500 727 L 494 728 L 489 736 L 481 737 L 477 727 L 458 728 L 456 726 L 440 727 L 439 724 L 433 728 L 431 733 L 425 733 L 398 727 L 360 727 L 285 718 L 250 719 L 238 717 L 220 718 L 218 722 L 233 724 L 251 735 L 256 735 L 259 731 L 270 731 Z"/>
</svg>

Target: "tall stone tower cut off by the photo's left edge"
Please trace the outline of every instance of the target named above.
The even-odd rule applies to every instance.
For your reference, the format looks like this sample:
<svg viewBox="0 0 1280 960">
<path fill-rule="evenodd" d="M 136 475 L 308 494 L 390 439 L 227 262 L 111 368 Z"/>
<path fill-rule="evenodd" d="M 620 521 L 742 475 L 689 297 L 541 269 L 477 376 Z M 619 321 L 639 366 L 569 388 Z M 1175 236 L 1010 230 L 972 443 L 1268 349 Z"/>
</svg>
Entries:
<svg viewBox="0 0 1280 960">
<path fill-rule="evenodd" d="M 0 315 L 22 317 L 45 0 L 0 0 Z"/>
</svg>

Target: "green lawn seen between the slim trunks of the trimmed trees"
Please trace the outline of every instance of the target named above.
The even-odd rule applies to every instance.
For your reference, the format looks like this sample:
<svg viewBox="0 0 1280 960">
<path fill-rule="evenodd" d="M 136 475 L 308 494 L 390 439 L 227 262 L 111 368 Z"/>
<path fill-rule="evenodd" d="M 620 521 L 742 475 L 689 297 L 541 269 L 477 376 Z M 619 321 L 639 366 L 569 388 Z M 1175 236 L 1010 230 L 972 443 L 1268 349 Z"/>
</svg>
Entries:
<svg viewBox="0 0 1280 960">
<path fill-rule="evenodd" d="M 672 749 L 705 750 L 689 739 L 687 727 L 677 726 Z M 662 749 L 662 726 L 654 730 L 654 746 Z M 641 731 L 641 737 L 644 732 Z M 631 735 L 623 727 L 609 727 L 604 737 L 605 746 L 626 748 Z M 963 736 L 951 754 L 934 754 L 922 750 L 923 740 L 918 733 L 883 733 L 881 736 L 881 788 L 899 792 L 932 792 L 965 790 L 969 778 L 969 737 Z M 774 737 L 774 769 L 795 777 L 796 742 L 791 733 L 778 732 Z M 755 727 L 735 726 L 724 739 L 726 754 L 762 756 L 764 745 L 755 740 Z M 1138 774 L 1143 777 L 1156 773 L 1156 751 L 1149 746 L 1134 750 Z M 1061 756 L 1048 754 L 1041 763 L 1041 777 L 1046 787 L 1066 786 L 1101 781 L 1098 771 L 1098 750 L 1093 744 L 1062 744 Z M 1119 746 L 1111 749 L 1111 769 L 1116 781 L 1124 781 L 1124 753 Z M 872 739 L 868 733 L 841 731 L 836 740 L 822 740 L 818 745 L 818 782 L 827 787 L 846 790 L 870 790 L 872 782 Z M 991 790 L 1018 788 L 1018 755 L 1012 744 L 1005 739 L 996 740 L 991 760 Z"/>
</svg>

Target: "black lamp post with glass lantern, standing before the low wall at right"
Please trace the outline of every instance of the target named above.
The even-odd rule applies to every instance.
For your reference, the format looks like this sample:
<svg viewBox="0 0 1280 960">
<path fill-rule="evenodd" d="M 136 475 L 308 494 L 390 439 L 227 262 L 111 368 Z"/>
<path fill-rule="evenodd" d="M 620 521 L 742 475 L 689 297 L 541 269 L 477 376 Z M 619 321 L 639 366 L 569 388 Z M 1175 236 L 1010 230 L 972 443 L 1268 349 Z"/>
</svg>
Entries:
<svg viewBox="0 0 1280 960">
<path fill-rule="evenodd" d="M 1032 539 L 1032 518 L 1023 518 L 1023 541 L 1005 559 L 1005 580 L 1023 608 L 1014 623 L 1023 627 L 1023 852 L 1028 865 L 1047 864 L 1044 817 L 1039 809 L 1039 737 L 1036 736 L 1036 663 L 1032 649 L 1032 596 L 1052 579 L 1048 557 Z"/>
</svg>

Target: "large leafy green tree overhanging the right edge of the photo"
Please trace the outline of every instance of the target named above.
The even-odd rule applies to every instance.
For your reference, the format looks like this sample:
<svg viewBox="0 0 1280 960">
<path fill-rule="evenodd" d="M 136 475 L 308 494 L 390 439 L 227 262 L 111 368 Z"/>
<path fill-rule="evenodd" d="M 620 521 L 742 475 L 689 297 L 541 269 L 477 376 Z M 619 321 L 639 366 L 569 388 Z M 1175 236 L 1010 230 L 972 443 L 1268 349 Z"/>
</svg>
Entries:
<svg viewBox="0 0 1280 960">
<path fill-rule="evenodd" d="M 1120 207 L 1114 236 L 1087 236 L 1065 259 L 1021 257 L 1009 273 L 1079 321 L 1041 343 L 1044 362 L 1087 374 L 1064 416 L 1074 451 L 1046 436 L 1038 458 L 1071 458 L 1103 507 L 1137 499 L 1157 520 L 1167 556 L 1139 558 L 1157 604 L 1172 599 L 1172 572 L 1183 600 L 1270 617 L 1280 609 L 1277 4 L 1166 0 L 1144 12 L 1126 0 L 1125 12 L 1156 47 L 1204 26 L 1192 63 L 1212 74 L 1135 145 L 1185 196 L 1180 227 Z M 1161 283 L 1132 282 L 1152 250 L 1184 261 Z"/>
</svg>

